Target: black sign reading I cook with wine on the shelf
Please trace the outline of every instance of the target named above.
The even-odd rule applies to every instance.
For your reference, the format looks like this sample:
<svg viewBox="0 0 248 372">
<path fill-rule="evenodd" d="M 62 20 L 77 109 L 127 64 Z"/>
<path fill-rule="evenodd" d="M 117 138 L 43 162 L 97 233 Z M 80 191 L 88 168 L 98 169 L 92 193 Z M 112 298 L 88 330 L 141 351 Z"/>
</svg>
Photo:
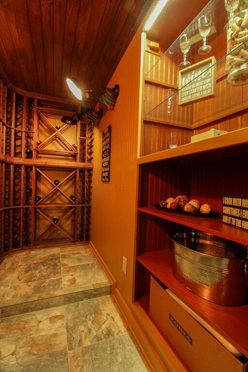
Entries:
<svg viewBox="0 0 248 372">
<path fill-rule="evenodd" d="M 222 222 L 248 230 L 248 199 L 223 196 Z"/>
</svg>

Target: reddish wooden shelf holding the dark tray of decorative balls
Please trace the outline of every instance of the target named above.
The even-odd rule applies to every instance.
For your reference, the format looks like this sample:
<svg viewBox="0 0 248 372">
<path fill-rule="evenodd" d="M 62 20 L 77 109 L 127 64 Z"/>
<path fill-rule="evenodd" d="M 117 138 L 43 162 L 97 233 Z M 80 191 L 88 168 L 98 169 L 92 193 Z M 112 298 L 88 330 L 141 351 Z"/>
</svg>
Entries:
<svg viewBox="0 0 248 372">
<path fill-rule="evenodd" d="M 138 211 L 179 223 L 180 225 L 184 225 L 192 229 L 201 230 L 204 233 L 214 234 L 224 239 L 229 239 L 240 244 L 248 245 L 248 232 L 223 223 L 221 217 L 204 218 L 187 216 L 179 213 L 159 211 L 154 207 L 139 207 Z"/>
</svg>

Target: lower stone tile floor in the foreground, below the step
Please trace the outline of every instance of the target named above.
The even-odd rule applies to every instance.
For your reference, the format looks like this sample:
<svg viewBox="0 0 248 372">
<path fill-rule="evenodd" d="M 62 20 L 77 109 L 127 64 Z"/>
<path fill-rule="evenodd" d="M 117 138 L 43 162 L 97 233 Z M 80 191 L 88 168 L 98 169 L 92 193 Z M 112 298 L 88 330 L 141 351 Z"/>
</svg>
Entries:
<svg viewBox="0 0 248 372">
<path fill-rule="evenodd" d="M 146 371 L 109 295 L 0 319 L 0 372 Z"/>
</svg>

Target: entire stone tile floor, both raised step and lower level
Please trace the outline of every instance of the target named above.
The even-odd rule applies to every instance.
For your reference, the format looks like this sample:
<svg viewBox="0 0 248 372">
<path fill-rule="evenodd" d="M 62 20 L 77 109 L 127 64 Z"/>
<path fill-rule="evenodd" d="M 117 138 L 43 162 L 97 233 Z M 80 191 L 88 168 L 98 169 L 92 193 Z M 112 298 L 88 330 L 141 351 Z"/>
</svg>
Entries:
<svg viewBox="0 0 248 372">
<path fill-rule="evenodd" d="M 0 265 L 0 372 L 146 372 L 89 246 Z"/>
</svg>

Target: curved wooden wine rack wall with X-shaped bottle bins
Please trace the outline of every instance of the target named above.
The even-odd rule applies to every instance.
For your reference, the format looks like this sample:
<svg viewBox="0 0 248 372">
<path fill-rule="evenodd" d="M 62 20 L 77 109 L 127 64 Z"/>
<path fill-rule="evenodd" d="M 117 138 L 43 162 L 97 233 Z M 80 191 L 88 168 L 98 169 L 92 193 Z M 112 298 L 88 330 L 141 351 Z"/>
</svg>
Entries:
<svg viewBox="0 0 248 372">
<path fill-rule="evenodd" d="M 61 122 L 78 109 L 0 81 L 0 259 L 41 244 L 89 241 L 93 123 Z"/>
</svg>

